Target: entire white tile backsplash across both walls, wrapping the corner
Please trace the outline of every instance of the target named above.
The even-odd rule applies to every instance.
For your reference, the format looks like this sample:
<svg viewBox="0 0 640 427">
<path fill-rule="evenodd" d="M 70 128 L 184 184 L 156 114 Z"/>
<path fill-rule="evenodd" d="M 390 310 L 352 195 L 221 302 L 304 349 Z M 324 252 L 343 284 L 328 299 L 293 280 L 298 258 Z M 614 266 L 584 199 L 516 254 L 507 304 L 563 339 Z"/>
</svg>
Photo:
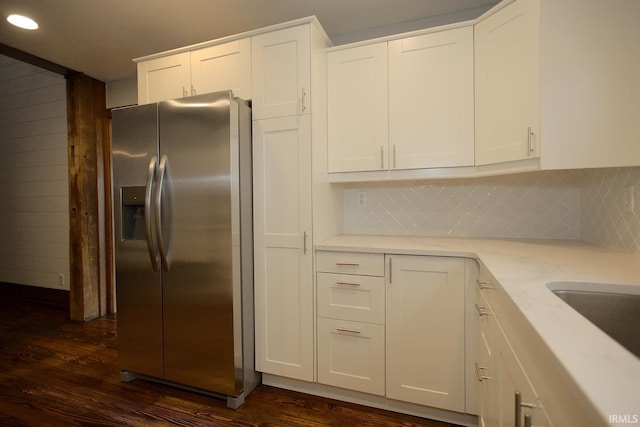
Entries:
<svg viewBox="0 0 640 427">
<path fill-rule="evenodd" d="M 634 213 L 623 208 L 627 185 Z M 637 251 L 639 190 L 640 167 L 346 184 L 344 232 L 582 239 Z"/>
</svg>

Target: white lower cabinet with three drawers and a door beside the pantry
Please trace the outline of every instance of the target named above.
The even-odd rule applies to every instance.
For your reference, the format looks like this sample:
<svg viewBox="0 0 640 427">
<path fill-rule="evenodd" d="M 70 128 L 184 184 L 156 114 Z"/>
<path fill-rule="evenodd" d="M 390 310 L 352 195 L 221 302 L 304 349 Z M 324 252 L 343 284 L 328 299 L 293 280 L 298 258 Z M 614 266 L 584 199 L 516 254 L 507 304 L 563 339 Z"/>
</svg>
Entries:
<svg viewBox="0 0 640 427">
<path fill-rule="evenodd" d="M 465 412 L 464 259 L 318 251 L 316 266 L 319 383 Z"/>
</svg>

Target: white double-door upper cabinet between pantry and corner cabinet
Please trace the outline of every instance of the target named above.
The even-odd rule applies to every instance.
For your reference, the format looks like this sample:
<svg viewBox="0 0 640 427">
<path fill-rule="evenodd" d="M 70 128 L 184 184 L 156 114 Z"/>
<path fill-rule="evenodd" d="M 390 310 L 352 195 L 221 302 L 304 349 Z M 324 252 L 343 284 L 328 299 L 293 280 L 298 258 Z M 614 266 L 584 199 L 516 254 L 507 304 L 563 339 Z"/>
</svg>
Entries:
<svg viewBox="0 0 640 427">
<path fill-rule="evenodd" d="M 473 28 L 327 54 L 329 172 L 474 164 Z"/>
</svg>

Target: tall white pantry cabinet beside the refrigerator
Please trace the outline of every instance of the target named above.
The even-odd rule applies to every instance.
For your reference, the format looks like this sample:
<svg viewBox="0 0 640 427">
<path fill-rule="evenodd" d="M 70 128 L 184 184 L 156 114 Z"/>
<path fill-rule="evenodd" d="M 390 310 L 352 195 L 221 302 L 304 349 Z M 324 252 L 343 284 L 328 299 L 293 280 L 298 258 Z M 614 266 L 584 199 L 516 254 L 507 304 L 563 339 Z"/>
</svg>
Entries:
<svg viewBox="0 0 640 427">
<path fill-rule="evenodd" d="M 313 381 L 312 70 L 329 41 L 312 20 L 251 45 L 256 369 Z"/>
</svg>

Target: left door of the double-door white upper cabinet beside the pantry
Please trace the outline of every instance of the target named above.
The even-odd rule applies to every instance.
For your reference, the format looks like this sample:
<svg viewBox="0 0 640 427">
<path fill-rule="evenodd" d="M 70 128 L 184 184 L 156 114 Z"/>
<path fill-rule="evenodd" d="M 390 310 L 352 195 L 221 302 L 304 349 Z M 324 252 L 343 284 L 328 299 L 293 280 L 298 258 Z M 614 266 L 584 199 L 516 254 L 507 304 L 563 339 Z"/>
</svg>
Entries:
<svg viewBox="0 0 640 427">
<path fill-rule="evenodd" d="M 329 172 L 388 167 L 387 44 L 327 54 Z"/>
</svg>

